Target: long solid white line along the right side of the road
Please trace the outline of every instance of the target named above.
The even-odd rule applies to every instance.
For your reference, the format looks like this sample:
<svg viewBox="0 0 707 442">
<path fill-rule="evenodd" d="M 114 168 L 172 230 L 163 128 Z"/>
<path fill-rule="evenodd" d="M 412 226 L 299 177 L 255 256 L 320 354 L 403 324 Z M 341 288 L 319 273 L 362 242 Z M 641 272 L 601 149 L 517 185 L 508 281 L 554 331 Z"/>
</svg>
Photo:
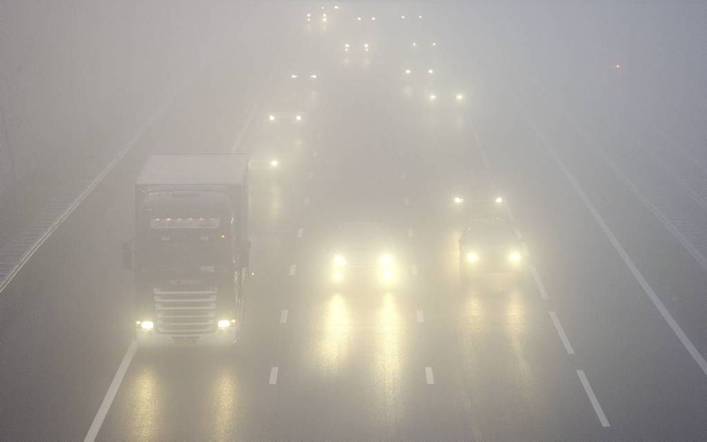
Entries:
<svg viewBox="0 0 707 442">
<path fill-rule="evenodd" d="M 667 308 L 665 308 L 665 305 L 663 305 L 662 301 L 660 301 L 660 298 L 658 298 L 658 295 L 653 290 L 653 287 L 648 284 L 648 281 L 646 281 L 645 277 L 643 277 L 643 274 L 638 270 L 636 264 L 633 263 L 633 260 L 631 259 L 629 254 L 626 252 L 626 250 L 624 250 L 624 246 L 619 243 L 617 237 L 609 228 L 606 221 L 604 221 L 604 218 L 600 215 L 596 207 L 594 207 L 594 204 L 592 204 L 587 194 L 585 194 L 584 190 L 582 190 L 582 187 L 580 187 L 577 180 L 575 180 L 574 176 L 570 173 L 565 163 L 563 163 L 560 157 L 557 156 L 557 153 L 555 152 L 549 141 L 545 139 L 544 134 L 540 132 L 540 129 L 537 127 L 532 117 L 530 117 L 530 114 L 528 114 L 528 112 L 525 110 L 525 107 L 522 105 L 522 103 L 520 103 L 518 97 L 513 95 L 513 98 L 515 99 L 516 103 L 518 104 L 518 107 L 520 107 L 520 110 L 523 112 L 525 117 L 527 117 L 528 121 L 530 121 L 530 124 L 532 125 L 535 134 L 537 134 L 540 141 L 542 141 L 542 144 L 549 152 L 551 158 L 553 159 L 557 167 L 559 167 L 563 175 L 565 175 L 565 178 L 570 182 L 575 192 L 579 195 L 580 199 L 582 199 L 582 202 L 584 203 L 585 207 L 587 207 L 587 209 L 590 211 L 590 214 L 592 214 L 592 217 L 594 217 L 594 220 L 597 222 L 597 224 L 599 224 L 600 228 L 604 232 L 604 235 L 609 238 L 609 242 L 612 243 L 612 245 L 614 246 L 614 250 L 617 251 L 619 257 L 621 257 L 621 260 L 623 260 L 624 264 L 626 264 L 626 267 L 629 267 L 631 274 L 633 274 L 633 277 L 636 279 L 636 281 L 638 281 L 638 284 L 641 285 L 641 288 L 645 292 L 645 296 L 648 296 L 655 308 L 657 308 L 658 312 L 660 312 L 662 318 L 665 320 L 665 322 L 667 322 L 667 325 L 670 326 L 672 332 L 674 332 L 680 342 L 682 342 L 682 345 L 685 347 L 687 352 L 690 354 L 690 356 L 692 356 L 692 359 L 694 359 L 697 365 L 699 365 L 699 367 L 702 369 L 702 372 L 707 375 L 707 361 L 705 361 L 703 356 L 700 354 L 699 350 L 696 349 L 694 344 L 692 344 L 690 338 L 687 337 L 687 335 L 685 335 L 685 332 L 682 331 L 682 328 L 677 324 L 675 318 L 673 318 Z"/>
</svg>

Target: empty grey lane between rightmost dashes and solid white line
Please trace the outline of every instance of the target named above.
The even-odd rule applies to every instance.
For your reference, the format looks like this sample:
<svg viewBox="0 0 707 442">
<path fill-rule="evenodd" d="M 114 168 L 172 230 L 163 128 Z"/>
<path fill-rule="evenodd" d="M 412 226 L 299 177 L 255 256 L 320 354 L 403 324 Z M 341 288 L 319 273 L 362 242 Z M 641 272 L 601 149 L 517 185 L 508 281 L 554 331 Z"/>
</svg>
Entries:
<svg viewBox="0 0 707 442">
<path fill-rule="evenodd" d="M 537 250 L 538 271 L 566 318 L 578 359 L 594 379 L 614 431 L 629 438 L 703 434 L 703 373 L 568 189 L 537 137 L 525 125 L 513 128 L 512 135 L 505 125 L 495 128 L 496 134 L 509 138 L 506 144 L 499 144 L 491 132 L 484 135 L 486 144 L 496 144 L 489 149 L 494 152 L 491 161 L 513 186 L 519 222 Z M 583 177 L 583 184 L 611 182 L 592 158 L 584 156 L 582 164 L 583 170 L 597 174 L 590 180 Z M 620 192 L 620 187 L 612 187 L 612 192 Z"/>
</svg>

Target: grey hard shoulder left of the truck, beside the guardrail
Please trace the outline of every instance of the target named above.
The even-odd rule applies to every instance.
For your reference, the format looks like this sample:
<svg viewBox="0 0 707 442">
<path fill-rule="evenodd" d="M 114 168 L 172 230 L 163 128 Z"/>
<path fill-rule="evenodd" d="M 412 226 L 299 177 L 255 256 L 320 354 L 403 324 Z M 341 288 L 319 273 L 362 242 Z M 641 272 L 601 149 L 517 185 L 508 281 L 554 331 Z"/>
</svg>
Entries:
<svg viewBox="0 0 707 442">
<path fill-rule="evenodd" d="M 243 83 L 249 81 L 243 74 L 233 78 L 243 78 Z M 199 86 L 198 81 L 192 85 L 197 89 Z M 188 89 L 186 95 L 189 95 Z M 214 105 L 213 101 L 210 103 Z M 236 102 L 230 102 L 233 103 Z M 22 393 L 14 395 L 16 403 L 7 402 L 8 413 L 12 413 L 7 421 L 12 423 L 4 426 L 4 434 L 15 434 L 18 438 L 30 435 L 49 438 L 62 434 L 66 438 L 80 438 L 88 428 L 132 334 L 132 319 L 126 321 L 125 318 L 132 318 L 134 299 L 129 294 L 129 277 L 119 270 L 122 267 L 119 250 L 133 235 L 128 227 L 133 223 L 134 182 L 144 153 L 158 144 L 153 144 L 155 139 L 177 149 L 179 146 L 168 142 L 170 135 L 175 133 L 173 124 L 195 128 L 201 123 L 194 122 L 207 120 L 203 113 L 201 118 L 195 118 L 193 109 L 189 113 L 189 108 L 192 106 L 182 108 L 177 105 L 170 109 L 136 146 L 137 158 L 124 161 L 129 163 L 126 166 L 129 171 L 120 173 L 116 170 L 111 175 L 105 186 L 119 190 L 119 197 L 99 189 L 82 204 L 79 212 L 86 213 L 82 216 L 77 212 L 54 234 L 54 237 L 62 238 L 57 239 L 59 245 L 52 245 L 52 238 L 33 259 L 40 260 L 40 256 L 47 253 L 47 262 L 37 264 L 37 267 L 30 262 L 24 271 L 26 277 L 18 279 L 16 296 L 11 298 L 15 308 L 4 309 L 8 320 L 4 320 L 2 351 L 4 364 L 7 364 L 3 368 L 4 384 L 15 385 L 22 389 Z M 189 124 L 182 124 L 180 119 Z M 218 133 L 230 134 L 232 129 L 222 127 Z M 99 202 L 100 208 L 91 202 L 92 199 Z M 102 211 L 106 209 L 104 219 Z M 94 218 L 100 222 L 96 223 Z M 65 233 L 69 229 L 67 226 L 73 223 L 78 226 Z M 76 250 L 76 244 L 81 245 L 81 252 L 67 262 L 66 250 Z M 95 260 L 95 257 L 102 259 Z M 65 266 L 59 272 L 57 262 L 64 262 Z M 62 293 L 62 296 L 56 293 Z M 57 312 L 62 314 L 57 315 Z M 32 320 L 21 321 L 21 315 L 30 316 Z M 30 329 L 29 324 L 33 325 Z M 66 339 L 67 336 L 71 340 Z M 106 356 L 88 357 L 95 354 Z M 37 370 L 11 364 L 23 364 Z M 76 403 L 76 407 L 64 407 L 67 397 Z"/>
</svg>

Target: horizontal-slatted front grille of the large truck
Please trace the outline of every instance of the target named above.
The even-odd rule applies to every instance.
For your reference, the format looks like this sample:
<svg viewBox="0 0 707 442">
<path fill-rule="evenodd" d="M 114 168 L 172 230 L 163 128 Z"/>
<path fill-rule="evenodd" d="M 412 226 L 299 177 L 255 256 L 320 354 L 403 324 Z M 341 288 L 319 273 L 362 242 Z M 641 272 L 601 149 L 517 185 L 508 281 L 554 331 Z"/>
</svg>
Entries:
<svg viewBox="0 0 707 442">
<path fill-rule="evenodd" d="M 218 289 L 153 289 L 156 330 L 165 335 L 192 336 L 216 330 Z"/>
</svg>

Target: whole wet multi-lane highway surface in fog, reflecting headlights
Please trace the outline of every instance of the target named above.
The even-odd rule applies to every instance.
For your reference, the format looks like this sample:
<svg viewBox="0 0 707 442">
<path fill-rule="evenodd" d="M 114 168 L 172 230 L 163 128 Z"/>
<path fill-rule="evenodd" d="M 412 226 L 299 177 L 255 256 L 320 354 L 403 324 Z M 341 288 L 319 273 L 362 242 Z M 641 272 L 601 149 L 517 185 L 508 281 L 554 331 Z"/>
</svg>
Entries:
<svg viewBox="0 0 707 442">
<path fill-rule="evenodd" d="M 448 9 L 333 5 L 234 30 L 2 293 L 0 439 L 706 439 L 707 273 L 570 112 L 460 60 Z M 251 156 L 243 334 L 136 350 L 136 175 L 230 152 Z M 459 189 L 502 194 L 522 277 L 460 284 Z M 387 225 L 397 286 L 330 284 L 347 221 Z"/>
</svg>

